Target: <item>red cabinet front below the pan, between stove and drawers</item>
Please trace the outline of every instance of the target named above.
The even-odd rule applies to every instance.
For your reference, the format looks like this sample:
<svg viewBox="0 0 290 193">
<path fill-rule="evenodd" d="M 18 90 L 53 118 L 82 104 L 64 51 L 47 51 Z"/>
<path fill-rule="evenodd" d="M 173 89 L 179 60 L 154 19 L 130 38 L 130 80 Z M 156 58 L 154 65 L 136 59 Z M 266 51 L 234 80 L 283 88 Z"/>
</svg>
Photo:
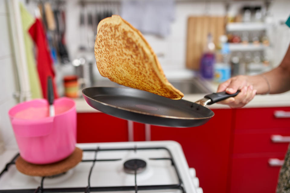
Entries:
<svg viewBox="0 0 290 193">
<path fill-rule="evenodd" d="M 189 167 L 196 169 L 205 193 L 226 192 L 231 134 L 231 109 L 214 109 L 205 125 L 192 128 L 151 126 L 151 140 L 174 140 L 182 145 Z"/>
</svg>

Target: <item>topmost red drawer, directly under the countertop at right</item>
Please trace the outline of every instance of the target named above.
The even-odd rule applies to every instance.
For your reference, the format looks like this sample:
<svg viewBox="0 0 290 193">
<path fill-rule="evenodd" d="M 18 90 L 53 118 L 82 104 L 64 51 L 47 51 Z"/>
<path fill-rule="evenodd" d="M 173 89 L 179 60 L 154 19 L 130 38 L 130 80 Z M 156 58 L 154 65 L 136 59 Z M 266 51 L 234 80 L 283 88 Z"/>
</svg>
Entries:
<svg viewBox="0 0 290 193">
<path fill-rule="evenodd" d="M 235 109 L 236 129 L 290 128 L 290 107 Z"/>
</svg>

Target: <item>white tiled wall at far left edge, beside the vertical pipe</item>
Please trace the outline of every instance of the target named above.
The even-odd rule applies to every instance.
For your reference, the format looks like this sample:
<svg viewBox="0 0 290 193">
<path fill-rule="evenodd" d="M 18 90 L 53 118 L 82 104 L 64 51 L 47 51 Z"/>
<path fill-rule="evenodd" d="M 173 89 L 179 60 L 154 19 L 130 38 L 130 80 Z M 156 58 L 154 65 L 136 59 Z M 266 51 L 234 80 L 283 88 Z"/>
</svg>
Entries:
<svg viewBox="0 0 290 193">
<path fill-rule="evenodd" d="M 15 146 L 16 141 L 8 117 L 8 110 L 16 104 L 13 98 L 13 93 L 16 90 L 14 58 L 11 51 L 8 22 L 9 13 L 5 0 L 0 0 L 0 138 L 6 146 Z"/>
</svg>

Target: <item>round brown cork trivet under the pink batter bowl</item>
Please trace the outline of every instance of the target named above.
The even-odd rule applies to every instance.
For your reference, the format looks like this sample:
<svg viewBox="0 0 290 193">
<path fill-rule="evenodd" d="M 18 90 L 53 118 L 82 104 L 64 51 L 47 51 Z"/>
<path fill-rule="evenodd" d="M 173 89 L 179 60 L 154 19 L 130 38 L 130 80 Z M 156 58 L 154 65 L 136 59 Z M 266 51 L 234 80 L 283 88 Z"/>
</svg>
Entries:
<svg viewBox="0 0 290 193">
<path fill-rule="evenodd" d="M 19 156 L 15 165 L 19 172 L 29 176 L 54 176 L 68 171 L 80 161 L 82 161 L 82 150 L 76 147 L 69 157 L 56 163 L 37 165 L 28 163 Z"/>
</svg>

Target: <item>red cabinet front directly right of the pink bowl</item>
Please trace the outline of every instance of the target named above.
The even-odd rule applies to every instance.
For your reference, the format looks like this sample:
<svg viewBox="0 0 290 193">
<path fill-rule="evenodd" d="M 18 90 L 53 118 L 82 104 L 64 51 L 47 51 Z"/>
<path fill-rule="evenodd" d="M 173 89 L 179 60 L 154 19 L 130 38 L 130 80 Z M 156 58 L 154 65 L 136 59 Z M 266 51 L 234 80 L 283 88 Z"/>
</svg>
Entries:
<svg viewBox="0 0 290 193">
<path fill-rule="evenodd" d="M 128 141 L 127 120 L 105 113 L 77 114 L 77 142 Z"/>
</svg>

